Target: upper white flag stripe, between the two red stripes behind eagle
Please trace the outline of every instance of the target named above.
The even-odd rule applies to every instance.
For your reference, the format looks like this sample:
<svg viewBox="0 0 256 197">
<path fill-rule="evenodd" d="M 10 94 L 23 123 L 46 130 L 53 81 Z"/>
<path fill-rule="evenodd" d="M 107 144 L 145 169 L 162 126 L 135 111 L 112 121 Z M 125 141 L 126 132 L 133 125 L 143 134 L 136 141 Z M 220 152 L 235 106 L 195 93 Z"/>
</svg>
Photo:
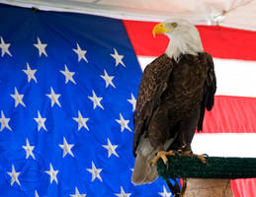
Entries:
<svg viewBox="0 0 256 197">
<path fill-rule="evenodd" d="M 138 56 L 142 70 L 155 57 Z M 256 98 L 256 62 L 214 58 L 216 95 Z"/>
</svg>

